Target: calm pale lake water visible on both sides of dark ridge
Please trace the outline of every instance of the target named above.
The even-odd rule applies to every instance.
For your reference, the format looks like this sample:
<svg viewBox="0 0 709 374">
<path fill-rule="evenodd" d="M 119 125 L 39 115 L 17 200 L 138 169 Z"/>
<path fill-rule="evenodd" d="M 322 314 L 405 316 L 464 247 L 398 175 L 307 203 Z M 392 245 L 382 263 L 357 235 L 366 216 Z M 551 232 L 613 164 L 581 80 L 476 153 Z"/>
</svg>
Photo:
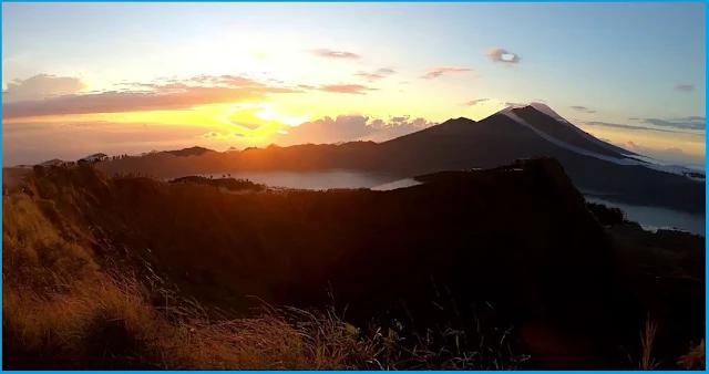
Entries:
<svg viewBox="0 0 709 374">
<path fill-rule="evenodd" d="M 205 175 L 209 176 L 209 175 Z M 215 178 L 222 174 L 214 174 Z M 419 184 L 413 179 L 401 179 L 395 176 L 357 173 L 348 170 L 329 170 L 317 173 L 232 173 L 233 178 L 249 179 L 254 183 L 270 187 L 287 187 L 298 189 L 329 189 L 329 188 L 371 188 L 374 190 L 390 190 L 405 188 Z M 596 196 L 586 196 L 586 200 L 604 204 L 624 210 L 627 218 L 640 224 L 646 230 L 659 228 L 676 228 L 692 233 L 706 236 L 706 217 L 692 216 L 686 212 L 665 208 L 627 205 L 607 201 Z"/>
</svg>

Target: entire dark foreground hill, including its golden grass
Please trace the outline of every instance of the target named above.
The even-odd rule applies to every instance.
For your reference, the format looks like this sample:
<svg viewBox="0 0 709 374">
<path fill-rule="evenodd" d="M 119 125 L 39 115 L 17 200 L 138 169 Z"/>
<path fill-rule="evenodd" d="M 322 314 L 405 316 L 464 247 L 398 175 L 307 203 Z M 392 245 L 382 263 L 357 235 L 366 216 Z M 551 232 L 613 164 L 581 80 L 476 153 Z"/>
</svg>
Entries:
<svg viewBox="0 0 709 374">
<path fill-rule="evenodd" d="M 705 238 L 604 228 L 553 158 L 389 191 L 229 194 L 91 166 L 24 187 L 3 199 L 6 368 L 703 362 Z"/>
</svg>

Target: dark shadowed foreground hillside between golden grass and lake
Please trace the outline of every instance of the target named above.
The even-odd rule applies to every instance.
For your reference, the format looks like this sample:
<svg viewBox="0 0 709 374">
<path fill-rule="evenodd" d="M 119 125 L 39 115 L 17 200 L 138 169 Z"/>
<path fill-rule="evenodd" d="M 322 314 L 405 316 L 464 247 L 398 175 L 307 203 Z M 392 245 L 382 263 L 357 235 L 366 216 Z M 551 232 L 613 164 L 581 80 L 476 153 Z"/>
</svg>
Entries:
<svg viewBox="0 0 709 374">
<path fill-rule="evenodd" d="M 218 319 L 217 310 L 251 315 L 260 301 L 297 308 L 335 303 L 338 311 L 347 305 L 345 320 L 360 328 L 361 339 L 377 336 L 370 323 L 383 331 L 403 325 L 397 334 L 408 337 L 400 354 L 411 356 L 422 346 L 436 352 L 419 360 L 424 367 L 460 357 L 462 349 L 512 360 L 502 353 L 506 346 L 475 349 L 482 336 L 530 352 L 526 367 L 637 367 L 638 330 L 648 312 L 660 326 L 653 355 L 667 367 L 702 337 L 703 285 L 692 279 L 703 279 L 703 268 L 682 268 L 703 263 L 702 239 L 687 237 L 669 248 L 649 233 L 604 229 L 554 159 L 392 191 L 239 195 L 107 178 L 91 167 L 37 169 L 28 187 L 34 201 L 19 199 L 21 205 L 3 211 L 31 212 L 37 206 L 53 227 L 32 237 L 10 222 L 6 228 L 3 215 L 3 248 L 10 248 L 3 278 L 14 279 L 3 282 L 3 295 L 19 300 L 3 304 L 6 320 L 14 315 L 13 325 L 3 325 L 3 344 L 6 333 L 18 336 L 22 325 L 11 310 L 22 305 L 17 290 L 30 288 L 45 298 L 71 293 L 65 279 L 91 279 L 94 268 L 135 271 L 143 297 L 164 307 L 165 298 L 153 290 L 157 279 L 162 288 L 196 299 L 210 319 Z M 72 261 L 42 253 L 58 248 L 41 238 L 70 243 L 60 249 L 74 253 Z M 20 250 L 28 247 L 41 250 Z M 645 250 L 646 257 L 638 256 Z M 633 262 L 637 257 L 645 268 Z M 61 271 L 41 270 L 47 268 Z M 656 271 L 651 277 L 648 268 Z M 218 346 L 238 336 L 222 339 L 210 342 Z M 6 350 L 3 365 L 37 359 L 33 352 Z M 202 367 L 225 367 L 214 360 L 226 359 L 210 360 Z M 378 367 L 371 360 L 358 362 L 357 367 Z"/>
</svg>

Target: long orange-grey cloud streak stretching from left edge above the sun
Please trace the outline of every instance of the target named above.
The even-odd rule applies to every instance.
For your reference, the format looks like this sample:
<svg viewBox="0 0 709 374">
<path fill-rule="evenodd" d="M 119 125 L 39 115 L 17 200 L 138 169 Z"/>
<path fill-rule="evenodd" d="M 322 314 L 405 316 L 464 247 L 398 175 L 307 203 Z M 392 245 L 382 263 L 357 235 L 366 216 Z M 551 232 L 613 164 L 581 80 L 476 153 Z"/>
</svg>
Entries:
<svg viewBox="0 0 709 374">
<path fill-rule="evenodd" d="M 208 85 L 199 83 L 206 81 L 209 81 Z M 230 75 L 197 77 L 183 82 L 131 83 L 127 86 L 131 89 L 3 103 L 2 118 L 188 110 L 208 104 L 263 101 L 268 95 L 277 93 L 304 92 Z"/>
</svg>

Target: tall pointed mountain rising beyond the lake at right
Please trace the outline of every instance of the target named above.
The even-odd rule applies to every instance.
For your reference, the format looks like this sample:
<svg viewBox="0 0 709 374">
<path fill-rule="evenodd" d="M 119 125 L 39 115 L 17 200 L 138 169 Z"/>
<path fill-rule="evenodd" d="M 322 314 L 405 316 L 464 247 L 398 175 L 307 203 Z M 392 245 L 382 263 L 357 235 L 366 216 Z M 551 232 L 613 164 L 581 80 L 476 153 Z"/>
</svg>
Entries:
<svg viewBox="0 0 709 374">
<path fill-rule="evenodd" d="M 557 158 L 586 193 L 625 202 L 705 212 L 705 184 L 656 169 L 614 149 L 571 124 L 526 106 L 505 110 L 481 122 L 450 120 L 386 142 L 371 159 L 379 170 L 404 175 L 444 169 L 489 168 L 540 155 Z M 584 135 L 585 134 L 585 135 Z"/>
</svg>

